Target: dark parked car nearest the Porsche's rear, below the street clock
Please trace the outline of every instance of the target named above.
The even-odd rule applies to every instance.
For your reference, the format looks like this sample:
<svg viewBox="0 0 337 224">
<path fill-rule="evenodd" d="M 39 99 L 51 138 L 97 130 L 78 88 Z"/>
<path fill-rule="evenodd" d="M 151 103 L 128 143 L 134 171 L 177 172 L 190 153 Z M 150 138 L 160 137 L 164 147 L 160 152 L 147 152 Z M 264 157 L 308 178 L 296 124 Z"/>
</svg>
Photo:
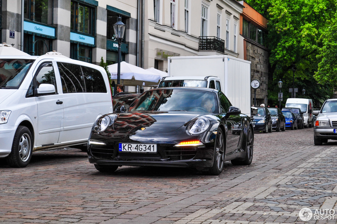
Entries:
<svg viewBox="0 0 337 224">
<path fill-rule="evenodd" d="M 254 132 L 272 132 L 272 119 L 269 110 L 265 107 L 255 108 L 257 108 L 257 114 L 255 114 L 252 119 Z"/>
</svg>

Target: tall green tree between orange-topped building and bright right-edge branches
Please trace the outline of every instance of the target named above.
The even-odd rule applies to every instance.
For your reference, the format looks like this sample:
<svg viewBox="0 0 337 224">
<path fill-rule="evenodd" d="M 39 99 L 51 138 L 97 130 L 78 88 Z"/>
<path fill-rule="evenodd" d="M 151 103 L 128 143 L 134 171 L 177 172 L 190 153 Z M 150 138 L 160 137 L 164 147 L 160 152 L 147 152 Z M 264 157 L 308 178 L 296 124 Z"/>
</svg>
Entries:
<svg viewBox="0 0 337 224">
<path fill-rule="evenodd" d="M 329 21 L 335 16 L 336 0 L 247 0 L 247 3 L 268 19 L 269 101 L 278 103 L 280 79 L 284 83 L 283 99 L 291 97 L 288 88 L 293 87 L 293 68 L 296 68 L 295 88 L 299 89 L 297 97 L 304 97 L 302 88 L 306 89 L 305 97 L 313 99 L 317 106 L 322 99 L 330 97 L 331 83 L 317 84 L 313 76 L 324 57 L 325 40 L 321 37 L 331 27 Z"/>
</svg>

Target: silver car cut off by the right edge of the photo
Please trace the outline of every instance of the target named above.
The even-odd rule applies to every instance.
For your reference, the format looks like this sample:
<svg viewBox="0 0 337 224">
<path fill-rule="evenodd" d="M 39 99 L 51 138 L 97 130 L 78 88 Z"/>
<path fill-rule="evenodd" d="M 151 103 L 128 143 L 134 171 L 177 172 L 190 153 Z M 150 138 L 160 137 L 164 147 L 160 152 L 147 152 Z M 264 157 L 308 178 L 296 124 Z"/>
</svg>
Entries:
<svg viewBox="0 0 337 224">
<path fill-rule="evenodd" d="M 326 100 L 319 110 L 314 126 L 314 144 L 337 140 L 337 99 Z"/>
</svg>

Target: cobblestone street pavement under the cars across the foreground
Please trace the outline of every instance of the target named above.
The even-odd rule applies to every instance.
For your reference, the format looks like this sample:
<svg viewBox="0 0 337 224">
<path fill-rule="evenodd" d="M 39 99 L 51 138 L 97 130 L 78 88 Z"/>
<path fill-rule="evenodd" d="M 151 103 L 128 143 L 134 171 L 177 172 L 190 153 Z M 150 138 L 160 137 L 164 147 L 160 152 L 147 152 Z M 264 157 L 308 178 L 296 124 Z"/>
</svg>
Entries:
<svg viewBox="0 0 337 224">
<path fill-rule="evenodd" d="M 0 160 L 0 223 L 303 223 L 302 207 L 336 209 L 337 141 L 314 146 L 312 128 L 254 137 L 252 165 L 226 163 L 219 176 L 158 167 L 102 174 L 78 149 L 36 152 L 24 169 Z"/>
</svg>

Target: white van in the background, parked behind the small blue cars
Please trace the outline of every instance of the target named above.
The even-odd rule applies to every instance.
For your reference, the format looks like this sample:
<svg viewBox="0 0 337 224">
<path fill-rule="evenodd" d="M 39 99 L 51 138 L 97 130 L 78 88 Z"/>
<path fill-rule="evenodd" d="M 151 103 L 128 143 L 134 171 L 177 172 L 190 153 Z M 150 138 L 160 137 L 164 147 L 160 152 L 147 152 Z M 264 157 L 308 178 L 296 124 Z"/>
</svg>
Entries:
<svg viewBox="0 0 337 224">
<path fill-rule="evenodd" d="M 313 126 L 312 123 L 312 100 L 310 99 L 302 99 L 302 98 L 288 98 L 285 103 L 285 107 L 295 107 L 300 108 L 303 114 L 304 119 L 304 127 L 311 128 Z"/>
</svg>

